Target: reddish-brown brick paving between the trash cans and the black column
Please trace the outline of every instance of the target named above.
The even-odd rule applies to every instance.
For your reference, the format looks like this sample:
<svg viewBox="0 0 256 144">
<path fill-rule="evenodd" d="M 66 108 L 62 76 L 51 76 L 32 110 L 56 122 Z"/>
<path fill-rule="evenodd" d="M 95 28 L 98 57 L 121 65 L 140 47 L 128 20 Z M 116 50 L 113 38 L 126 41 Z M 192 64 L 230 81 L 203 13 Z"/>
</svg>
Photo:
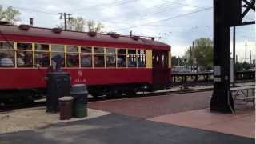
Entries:
<svg viewBox="0 0 256 144">
<path fill-rule="evenodd" d="M 144 98 L 125 98 L 103 102 L 90 102 L 88 106 L 92 109 L 109 111 L 114 114 L 153 118 L 165 114 L 209 107 L 209 97 L 211 95 L 212 91 L 206 91 Z"/>
</svg>

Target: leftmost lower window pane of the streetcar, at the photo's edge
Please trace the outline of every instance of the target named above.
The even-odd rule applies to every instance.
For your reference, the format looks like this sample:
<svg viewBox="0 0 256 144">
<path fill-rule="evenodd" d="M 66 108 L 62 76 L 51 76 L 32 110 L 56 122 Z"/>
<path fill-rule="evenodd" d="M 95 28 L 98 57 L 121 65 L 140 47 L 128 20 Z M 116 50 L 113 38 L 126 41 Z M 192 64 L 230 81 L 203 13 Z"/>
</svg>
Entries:
<svg viewBox="0 0 256 144">
<path fill-rule="evenodd" d="M 14 51 L 0 50 L 0 67 L 14 67 Z"/>
</svg>

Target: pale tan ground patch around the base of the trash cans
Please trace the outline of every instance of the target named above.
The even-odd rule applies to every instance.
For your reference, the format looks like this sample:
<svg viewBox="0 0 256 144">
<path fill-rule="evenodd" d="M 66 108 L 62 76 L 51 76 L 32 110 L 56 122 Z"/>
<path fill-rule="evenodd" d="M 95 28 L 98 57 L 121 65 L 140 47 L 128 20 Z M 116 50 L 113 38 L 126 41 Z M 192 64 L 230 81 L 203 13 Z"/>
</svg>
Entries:
<svg viewBox="0 0 256 144">
<path fill-rule="evenodd" d="M 59 113 L 46 113 L 45 106 L 13 110 L 4 114 L 0 114 L 0 134 L 21 130 L 35 130 L 54 123 L 79 121 L 100 117 L 106 114 L 110 113 L 102 110 L 88 109 L 88 116 L 85 118 L 59 120 Z"/>
</svg>

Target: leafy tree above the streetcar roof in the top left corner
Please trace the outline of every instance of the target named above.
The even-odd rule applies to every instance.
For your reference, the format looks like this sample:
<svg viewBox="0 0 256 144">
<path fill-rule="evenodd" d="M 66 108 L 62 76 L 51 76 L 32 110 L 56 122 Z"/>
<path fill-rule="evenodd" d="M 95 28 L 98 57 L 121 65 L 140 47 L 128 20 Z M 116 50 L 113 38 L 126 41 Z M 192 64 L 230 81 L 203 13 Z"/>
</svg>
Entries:
<svg viewBox="0 0 256 144">
<path fill-rule="evenodd" d="M 21 13 L 18 10 L 14 10 L 12 7 L 7 7 L 6 9 L 3 9 L 2 6 L 0 6 L 0 21 L 6 21 L 10 22 L 10 24 L 15 24 L 19 22 L 18 16 Z"/>
</svg>

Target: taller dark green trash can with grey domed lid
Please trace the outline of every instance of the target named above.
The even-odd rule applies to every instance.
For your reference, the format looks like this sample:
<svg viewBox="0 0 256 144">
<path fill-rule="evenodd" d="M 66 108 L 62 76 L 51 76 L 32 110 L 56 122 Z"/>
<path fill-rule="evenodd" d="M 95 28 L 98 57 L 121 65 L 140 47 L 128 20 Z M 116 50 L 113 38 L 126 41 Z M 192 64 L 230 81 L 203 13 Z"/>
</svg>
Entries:
<svg viewBox="0 0 256 144">
<path fill-rule="evenodd" d="M 70 94 L 74 98 L 73 115 L 75 118 L 87 116 L 87 87 L 84 84 L 76 84 L 71 87 Z"/>
</svg>

